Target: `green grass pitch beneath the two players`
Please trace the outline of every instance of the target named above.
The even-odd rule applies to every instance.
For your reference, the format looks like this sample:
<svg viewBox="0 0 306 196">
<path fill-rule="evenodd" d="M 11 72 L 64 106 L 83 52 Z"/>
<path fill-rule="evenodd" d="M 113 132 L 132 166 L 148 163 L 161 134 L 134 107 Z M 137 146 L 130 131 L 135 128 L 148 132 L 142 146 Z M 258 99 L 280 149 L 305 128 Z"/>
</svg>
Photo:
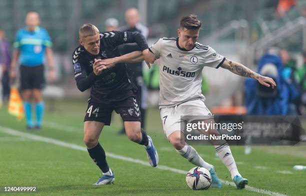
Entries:
<svg viewBox="0 0 306 196">
<path fill-rule="evenodd" d="M 37 131 L 26 130 L 24 120 L 18 122 L 7 113 L 4 105 L 0 108 L 0 126 L 84 146 L 85 109 L 86 101 L 57 101 L 55 111 L 46 111 L 43 127 Z M 146 131 L 158 150 L 159 164 L 186 171 L 193 167 L 168 143 L 157 108 L 148 110 L 146 120 Z M 125 135 L 117 135 L 120 128 L 121 120 L 116 114 L 111 126 L 104 127 L 99 139 L 105 151 L 146 161 L 142 146 L 129 141 Z M 215 158 L 213 146 L 194 147 L 204 160 L 215 165 L 221 179 L 232 181 L 226 167 Z M 238 169 L 248 178 L 250 186 L 287 195 L 304 195 L 306 191 L 306 171 L 292 169 L 295 164 L 306 163 L 305 156 L 297 155 L 305 149 L 305 146 L 260 146 L 253 147 L 250 155 L 244 155 L 242 146 L 231 146 Z M 35 185 L 38 190 L 35 195 L 263 195 L 250 190 L 237 190 L 230 185 L 223 185 L 222 189 L 193 191 L 185 184 L 183 174 L 111 157 L 107 161 L 115 173 L 115 184 L 96 187 L 91 184 L 101 174 L 87 152 L 0 131 L 0 185 Z"/>
</svg>

